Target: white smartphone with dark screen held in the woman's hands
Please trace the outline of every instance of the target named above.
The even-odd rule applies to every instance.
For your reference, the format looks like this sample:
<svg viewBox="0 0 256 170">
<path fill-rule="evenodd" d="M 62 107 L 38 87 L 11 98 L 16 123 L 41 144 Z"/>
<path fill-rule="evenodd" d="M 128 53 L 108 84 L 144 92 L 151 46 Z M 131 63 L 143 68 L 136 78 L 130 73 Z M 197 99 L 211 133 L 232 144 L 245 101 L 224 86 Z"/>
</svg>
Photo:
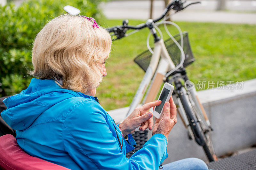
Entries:
<svg viewBox="0 0 256 170">
<path fill-rule="evenodd" d="M 164 112 L 163 112 L 163 107 L 164 107 L 164 103 L 168 102 L 172 96 L 172 92 L 173 92 L 174 86 L 172 86 L 170 83 L 164 83 L 164 87 L 161 90 L 161 93 L 158 97 L 158 100 L 161 100 L 162 103 L 158 106 L 155 107 L 155 109 L 153 110 L 153 115 L 157 118 L 157 119 L 161 119 Z"/>
</svg>

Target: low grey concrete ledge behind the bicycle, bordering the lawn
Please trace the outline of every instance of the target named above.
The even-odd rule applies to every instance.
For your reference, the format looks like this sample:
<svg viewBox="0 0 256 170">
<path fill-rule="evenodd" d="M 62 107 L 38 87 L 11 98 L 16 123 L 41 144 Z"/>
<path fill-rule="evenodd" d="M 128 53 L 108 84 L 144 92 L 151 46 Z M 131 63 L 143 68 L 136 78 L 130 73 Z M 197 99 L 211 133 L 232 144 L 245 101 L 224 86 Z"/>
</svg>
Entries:
<svg viewBox="0 0 256 170">
<path fill-rule="evenodd" d="M 256 143 L 256 79 L 244 81 L 241 90 L 208 89 L 199 91 L 198 97 L 214 129 L 212 142 L 217 156 Z M 125 107 L 108 113 L 116 122 L 121 122 L 128 109 Z M 164 163 L 189 157 L 206 160 L 203 149 L 188 139 L 187 131 L 179 119 L 168 137 L 169 157 Z"/>
</svg>

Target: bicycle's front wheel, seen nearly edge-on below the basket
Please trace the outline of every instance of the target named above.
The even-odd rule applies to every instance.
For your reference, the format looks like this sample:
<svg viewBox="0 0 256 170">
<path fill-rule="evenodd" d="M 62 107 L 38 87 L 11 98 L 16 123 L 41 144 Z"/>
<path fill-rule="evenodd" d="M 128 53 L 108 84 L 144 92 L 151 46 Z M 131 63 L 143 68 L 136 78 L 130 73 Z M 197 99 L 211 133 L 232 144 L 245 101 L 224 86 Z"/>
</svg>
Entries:
<svg viewBox="0 0 256 170">
<path fill-rule="evenodd" d="M 214 157 L 216 156 L 212 147 L 212 140 L 209 134 L 210 131 L 207 131 L 206 128 L 204 127 L 204 124 L 198 121 L 192 104 L 190 103 L 186 89 L 181 86 L 180 89 L 177 89 L 177 92 L 182 103 L 182 106 L 185 110 L 185 113 L 188 117 L 189 125 L 194 134 L 196 143 L 203 147 L 208 160 L 210 162 L 214 161 Z"/>
</svg>

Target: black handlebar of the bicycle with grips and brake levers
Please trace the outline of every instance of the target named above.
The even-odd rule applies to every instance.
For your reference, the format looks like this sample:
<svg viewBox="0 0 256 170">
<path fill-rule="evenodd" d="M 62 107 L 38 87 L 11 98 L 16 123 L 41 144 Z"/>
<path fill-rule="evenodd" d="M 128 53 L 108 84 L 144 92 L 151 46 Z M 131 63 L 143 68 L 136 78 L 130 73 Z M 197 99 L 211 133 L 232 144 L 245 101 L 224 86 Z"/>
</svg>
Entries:
<svg viewBox="0 0 256 170">
<path fill-rule="evenodd" d="M 161 17 L 153 20 L 154 23 L 156 23 L 157 21 L 160 21 L 161 19 L 164 18 L 164 16 L 167 14 L 168 11 L 170 11 L 171 9 L 175 10 L 176 12 L 178 11 L 181 11 L 185 8 L 187 8 L 189 5 L 192 5 L 192 4 L 198 4 L 198 3 L 201 3 L 201 2 L 193 2 L 193 3 L 190 3 L 188 4 L 187 6 L 183 7 L 183 3 L 181 2 L 181 0 L 174 0 L 172 1 L 172 3 L 170 3 L 163 11 L 163 14 Z M 128 24 L 128 20 L 124 20 L 123 21 L 123 25 L 120 25 L 120 26 L 114 26 L 114 27 L 110 27 L 110 28 L 106 28 L 106 30 L 110 33 L 110 32 L 114 32 L 117 39 L 121 39 L 125 36 L 125 32 L 128 30 L 128 29 L 133 29 L 133 30 L 140 30 L 142 28 L 145 28 L 147 27 L 147 24 L 143 24 L 143 25 L 140 25 L 140 26 L 130 26 L 130 25 L 127 25 Z M 114 39 L 116 40 L 116 39 Z"/>
</svg>

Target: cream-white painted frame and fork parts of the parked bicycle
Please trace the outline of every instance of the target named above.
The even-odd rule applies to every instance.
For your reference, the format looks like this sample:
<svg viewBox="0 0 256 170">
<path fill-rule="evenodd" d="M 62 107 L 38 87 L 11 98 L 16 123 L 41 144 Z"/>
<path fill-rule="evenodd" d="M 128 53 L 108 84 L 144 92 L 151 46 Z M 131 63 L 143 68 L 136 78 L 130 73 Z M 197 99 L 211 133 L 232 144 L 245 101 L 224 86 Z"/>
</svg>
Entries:
<svg viewBox="0 0 256 170">
<path fill-rule="evenodd" d="M 175 65 L 174 65 L 173 61 L 171 60 L 171 57 L 164 45 L 163 39 L 160 39 L 159 41 L 154 43 L 153 52 L 154 53 L 152 54 L 149 66 L 146 70 L 146 73 L 144 74 L 144 77 L 140 83 L 140 86 L 139 86 L 135 96 L 133 97 L 132 103 L 130 105 L 129 111 L 126 114 L 126 117 L 128 115 L 130 115 L 132 113 L 132 111 L 140 104 L 142 97 L 144 96 L 147 89 L 148 89 L 148 91 L 147 91 L 147 94 L 146 94 L 142 104 L 148 103 L 148 102 L 153 102 L 156 99 L 156 95 L 158 94 L 158 91 L 159 91 L 164 79 L 166 78 L 165 77 L 166 73 L 175 69 Z M 160 58 L 160 56 L 161 56 L 161 58 Z M 159 64 L 158 64 L 158 61 L 159 61 Z M 153 75 L 154 75 L 154 77 L 153 77 Z M 152 77 L 153 77 L 153 79 L 152 79 Z M 148 88 L 150 81 L 151 81 L 151 84 Z M 196 108 L 196 110 L 199 111 L 199 113 L 204 116 L 207 125 L 211 126 L 210 121 L 204 111 L 204 108 L 203 108 L 202 104 L 200 103 L 200 101 L 198 100 L 195 87 L 193 87 L 191 89 L 187 89 L 187 91 L 189 92 L 189 94 L 191 96 L 190 98 L 192 98 L 192 101 L 190 100 L 190 102 L 188 101 L 188 103 L 192 103 L 193 106 Z M 187 94 L 187 92 L 184 92 L 184 94 Z M 187 119 L 186 113 L 181 105 L 181 102 L 179 101 L 179 98 L 173 96 L 173 100 L 174 100 L 174 103 L 178 106 L 177 107 L 178 113 L 180 114 L 180 117 L 183 119 L 184 125 L 186 127 L 188 127 L 188 124 L 189 124 L 188 119 Z M 189 132 L 191 132 L 191 131 L 189 131 Z M 192 134 L 192 132 L 191 132 L 191 134 Z M 191 136 L 193 136 L 193 135 L 191 135 Z"/>
</svg>

